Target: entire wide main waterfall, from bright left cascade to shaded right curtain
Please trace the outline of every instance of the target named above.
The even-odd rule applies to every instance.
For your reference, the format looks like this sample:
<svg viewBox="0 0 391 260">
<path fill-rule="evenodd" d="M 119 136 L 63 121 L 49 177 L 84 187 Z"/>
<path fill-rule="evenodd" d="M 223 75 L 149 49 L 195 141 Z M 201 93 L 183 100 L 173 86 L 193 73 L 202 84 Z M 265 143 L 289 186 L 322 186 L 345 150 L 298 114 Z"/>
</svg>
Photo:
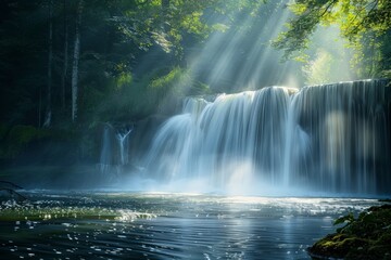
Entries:
<svg viewBox="0 0 391 260">
<path fill-rule="evenodd" d="M 156 133 L 144 176 L 160 183 L 202 180 L 238 192 L 387 192 L 386 84 L 270 87 L 212 103 L 188 99 L 182 114 Z"/>
</svg>

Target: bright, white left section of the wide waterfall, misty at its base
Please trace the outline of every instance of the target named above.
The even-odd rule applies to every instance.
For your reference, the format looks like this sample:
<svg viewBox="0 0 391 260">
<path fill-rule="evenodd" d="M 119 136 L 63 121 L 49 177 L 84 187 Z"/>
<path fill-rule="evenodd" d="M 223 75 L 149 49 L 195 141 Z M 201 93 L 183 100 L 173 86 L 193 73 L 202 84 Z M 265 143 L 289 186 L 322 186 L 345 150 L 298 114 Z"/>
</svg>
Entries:
<svg viewBox="0 0 391 260">
<path fill-rule="evenodd" d="M 203 179 L 225 188 L 253 178 L 281 181 L 290 89 L 222 94 L 213 103 L 188 99 L 184 113 L 157 132 L 146 159 L 161 181 Z"/>
</svg>

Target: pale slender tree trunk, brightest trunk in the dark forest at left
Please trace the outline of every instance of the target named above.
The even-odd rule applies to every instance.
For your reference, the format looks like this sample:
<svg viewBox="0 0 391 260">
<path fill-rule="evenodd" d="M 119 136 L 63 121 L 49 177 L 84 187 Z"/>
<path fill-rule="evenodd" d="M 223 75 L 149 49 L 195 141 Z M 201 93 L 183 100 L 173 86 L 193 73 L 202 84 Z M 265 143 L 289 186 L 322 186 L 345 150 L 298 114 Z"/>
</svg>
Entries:
<svg viewBox="0 0 391 260">
<path fill-rule="evenodd" d="M 77 118 L 77 95 L 78 95 L 78 62 L 80 57 L 80 22 L 83 12 L 83 0 L 79 0 L 76 17 L 76 34 L 74 47 L 74 60 L 72 68 L 72 121 Z"/>
</svg>

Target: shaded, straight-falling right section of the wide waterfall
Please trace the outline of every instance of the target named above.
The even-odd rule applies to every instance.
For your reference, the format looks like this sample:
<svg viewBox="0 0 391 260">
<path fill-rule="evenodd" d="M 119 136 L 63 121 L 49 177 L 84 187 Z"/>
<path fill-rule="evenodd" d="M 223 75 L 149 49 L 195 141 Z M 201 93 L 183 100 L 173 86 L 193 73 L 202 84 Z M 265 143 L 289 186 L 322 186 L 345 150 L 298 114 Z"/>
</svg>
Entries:
<svg viewBox="0 0 391 260">
<path fill-rule="evenodd" d="M 364 80 L 306 87 L 294 95 L 287 182 L 366 194 L 391 184 L 386 84 Z"/>
</svg>

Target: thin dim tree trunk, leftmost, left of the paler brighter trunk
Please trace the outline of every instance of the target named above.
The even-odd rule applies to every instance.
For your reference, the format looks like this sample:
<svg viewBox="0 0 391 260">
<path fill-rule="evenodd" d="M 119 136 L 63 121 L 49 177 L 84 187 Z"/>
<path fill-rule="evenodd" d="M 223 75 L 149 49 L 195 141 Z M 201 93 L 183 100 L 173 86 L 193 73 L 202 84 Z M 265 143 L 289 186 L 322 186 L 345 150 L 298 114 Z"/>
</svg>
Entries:
<svg viewBox="0 0 391 260">
<path fill-rule="evenodd" d="M 49 1 L 49 55 L 48 55 L 48 82 L 47 82 L 47 109 L 43 127 L 51 125 L 52 107 L 51 107 L 51 89 L 52 89 L 52 63 L 53 63 L 53 0 Z"/>
</svg>

